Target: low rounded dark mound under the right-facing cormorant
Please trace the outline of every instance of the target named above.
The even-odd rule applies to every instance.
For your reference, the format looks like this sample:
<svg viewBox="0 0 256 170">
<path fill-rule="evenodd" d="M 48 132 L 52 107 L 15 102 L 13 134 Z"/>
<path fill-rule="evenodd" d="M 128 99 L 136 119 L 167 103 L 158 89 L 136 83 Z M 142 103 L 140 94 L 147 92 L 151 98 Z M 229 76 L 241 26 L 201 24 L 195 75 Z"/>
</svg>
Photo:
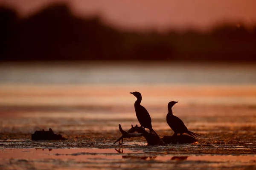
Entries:
<svg viewBox="0 0 256 170">
<path fill-rule="evenodd" d="M 185 144 L 197 142 L 195 138 L 188 135 L 163 136 L 162 140 L 166 144 Z"/>
</svg>

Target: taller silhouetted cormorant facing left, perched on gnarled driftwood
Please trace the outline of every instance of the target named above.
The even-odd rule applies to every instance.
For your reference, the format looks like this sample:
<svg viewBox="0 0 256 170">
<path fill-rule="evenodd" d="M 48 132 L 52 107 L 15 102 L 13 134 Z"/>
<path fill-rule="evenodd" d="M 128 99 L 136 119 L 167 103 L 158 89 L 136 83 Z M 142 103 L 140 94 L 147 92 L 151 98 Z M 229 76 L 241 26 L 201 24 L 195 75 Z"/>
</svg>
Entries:
<svg viewBox="0 0 256 170">
<path fill-rule="evenodd" d="M 133 94 L 137 98 L 137 100 L 134 103 L 134 108 L 135 108 L 135 113 L 140 125 L 144 128 L 149 129 L 150 133 L 157 135 L 157 133 L 155 133 L 155 131 L 152 129 L 151 117 L 147 109 L 144 108 L 142 105 L 140 105 L 140 102 L 142 100 L 142 96 L 140 92 L 134 91 L 134 92 L 130 92 L 130 94 Z"/>
</svg>

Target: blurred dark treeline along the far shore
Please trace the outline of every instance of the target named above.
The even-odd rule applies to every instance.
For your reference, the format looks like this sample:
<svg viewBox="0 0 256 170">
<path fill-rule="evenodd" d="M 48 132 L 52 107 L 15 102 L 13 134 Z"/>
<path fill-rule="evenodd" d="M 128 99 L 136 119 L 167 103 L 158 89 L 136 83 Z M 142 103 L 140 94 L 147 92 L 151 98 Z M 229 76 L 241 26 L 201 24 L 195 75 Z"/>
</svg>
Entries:
<svg viewBox="0 0 256 170">
<path fill-rule="evenodd" d="M 208 33 L 124 31 L 55 4 L 20 18 L 0 7 L 0 60 L 170 59 L 256 61 L 256 26 L 222 24 Z"/>
</svg>

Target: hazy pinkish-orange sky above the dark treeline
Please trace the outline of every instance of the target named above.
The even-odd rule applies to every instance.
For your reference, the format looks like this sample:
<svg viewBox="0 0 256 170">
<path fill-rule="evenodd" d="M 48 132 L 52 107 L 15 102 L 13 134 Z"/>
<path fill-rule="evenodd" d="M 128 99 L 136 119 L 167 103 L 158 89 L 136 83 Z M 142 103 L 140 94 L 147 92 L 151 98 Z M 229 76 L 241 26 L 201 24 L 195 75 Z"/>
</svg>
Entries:
<svg viewBox="0 0 256 170">
<path fill-rule="evenodd" d="M 23 16 L 50 2 L 67 2 L 77 14 L 101 14 L 123 28 L 195 27 L 222 21 L 256 23 L 256 0 L 0 0 Z"/>
</svg>

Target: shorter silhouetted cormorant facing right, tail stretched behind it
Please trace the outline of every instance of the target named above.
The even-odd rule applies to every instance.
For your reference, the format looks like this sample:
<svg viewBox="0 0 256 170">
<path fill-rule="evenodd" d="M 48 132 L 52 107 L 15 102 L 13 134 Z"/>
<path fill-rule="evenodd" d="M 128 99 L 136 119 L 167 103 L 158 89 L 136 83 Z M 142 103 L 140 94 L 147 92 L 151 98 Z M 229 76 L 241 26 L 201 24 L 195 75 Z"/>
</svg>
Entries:
<svg viewBox="0 0 256 170">
<path fill-rule="evenodd" d="M 177 102 L 175 101 L 168 103 L 168 114 L 166 116 L 166 121 L 168 125 L 171 127 L 171 129 L 174 131 L 174 135 L 177 135 L 178 133 L 180 133 L 180 135 L 183 133 L 187 133 L 192 137 L 200 136 L 194 132 L 189 131 L 188 128 L 182 122 L 182 120 L 172 114 L 172 106 L 174 106 L 176 103 Z"/>
</svg>

